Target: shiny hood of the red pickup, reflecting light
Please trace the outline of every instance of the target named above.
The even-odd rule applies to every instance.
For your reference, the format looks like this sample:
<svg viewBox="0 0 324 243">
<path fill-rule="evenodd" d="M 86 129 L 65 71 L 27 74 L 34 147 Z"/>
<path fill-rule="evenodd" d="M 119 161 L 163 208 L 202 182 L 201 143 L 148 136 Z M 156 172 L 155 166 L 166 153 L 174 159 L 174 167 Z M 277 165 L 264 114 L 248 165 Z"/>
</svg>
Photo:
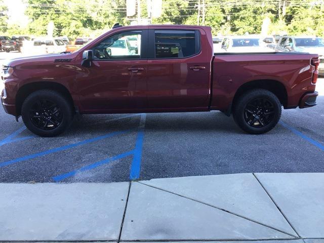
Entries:
<svg viewBox="0 0 324 243">
<path fill-rule="evenodd" d="M 7 59 L 2 61 L 2 65 L 4 66 L 17 66 L 24 63 L 31 63 L 31 62 L 63 62 L 63 61 L 71 61 L 75 58 L 77 53 L 58 53 L 58 54 L 43 54 L 37 56 L 30 56 L 30 57 L 20 57 L 20 58 L 13 58 Z"/>
</svg>

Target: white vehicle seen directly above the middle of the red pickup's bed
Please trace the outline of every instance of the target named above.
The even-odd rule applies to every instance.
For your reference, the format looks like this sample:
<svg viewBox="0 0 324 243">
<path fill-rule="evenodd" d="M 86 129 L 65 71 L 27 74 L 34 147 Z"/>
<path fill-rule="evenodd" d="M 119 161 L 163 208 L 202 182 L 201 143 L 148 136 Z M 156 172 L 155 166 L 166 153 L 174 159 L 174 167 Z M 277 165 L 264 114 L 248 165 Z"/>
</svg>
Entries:
<svg viewBox="0 0 324 243">
<path fill-rule="evenodd" d="M 253 35 L 227 36 L 223 39 L 221 48 L 232 53 L 273 52 L 263 39 Z"/>
</svg>

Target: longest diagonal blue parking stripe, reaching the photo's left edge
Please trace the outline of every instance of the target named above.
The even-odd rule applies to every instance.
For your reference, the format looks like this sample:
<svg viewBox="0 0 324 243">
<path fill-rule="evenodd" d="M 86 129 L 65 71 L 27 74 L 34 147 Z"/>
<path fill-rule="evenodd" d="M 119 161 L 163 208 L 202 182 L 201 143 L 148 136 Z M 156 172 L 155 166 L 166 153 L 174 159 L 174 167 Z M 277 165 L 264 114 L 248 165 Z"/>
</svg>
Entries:
<svg viewBox="0 0 324 243">
<path fill-rule="evenodd" d="M 65 145 L 65 146 L 61 146 L 61 147 L 49 149 L 49 150 L 46 150 L 46 151 L 43 151 L 43 152 L 29 154 L 29 155 L 26 155 L 26 156 L 23 156 L 23 157 L 19 157 L 19 158 L 15 158 L 15 159 L 12 159 L 12 160 L 8 160 L 8 161 L 5 161 L 5 162 L 2 162 L 2 163 L 0 163 L 0 168 L 1 167 L 5 167 L 5 166 L 9 166 L 9 165 L 12 165 L 12 164 L 15 164 L 15 163 L 18 163 L 18 162 L 21 162 L 21 161 L 25 161 L 27 159 L 41 157 L 41 156 L 44 156 L 44 155 L 47 155 L 47 154 L 50 154 L 50 153 L 56 153 L 56 152 L 63 151 L 63 150 L 67 150 L 67 149 L 74 148 L 74 147 L 77 147 L 77 146 L 82 146 L 82 145 L 85 145 L 85 144 L 97 142 L 99 140 L 106 139 L 106 138 L 110 138 L 110 137 L 113 137 L 113 136 L 116 136 L 116 135 L 120 135 L 120 134 L 125 134 L 127 132 L 130 132 L 130 130 L 121 131 L 121 132 L 108 133 L 106 135 L 99 136 L 99 137 L 95 137 L 95 138 L 91 138 L 91 139 L 86 139 L 86 140 L 83 140 L 83 141 L 78 142 L 78 143 L 72 143 L 72 144 L 69 144 L 69 145 Z"/>
</svg>

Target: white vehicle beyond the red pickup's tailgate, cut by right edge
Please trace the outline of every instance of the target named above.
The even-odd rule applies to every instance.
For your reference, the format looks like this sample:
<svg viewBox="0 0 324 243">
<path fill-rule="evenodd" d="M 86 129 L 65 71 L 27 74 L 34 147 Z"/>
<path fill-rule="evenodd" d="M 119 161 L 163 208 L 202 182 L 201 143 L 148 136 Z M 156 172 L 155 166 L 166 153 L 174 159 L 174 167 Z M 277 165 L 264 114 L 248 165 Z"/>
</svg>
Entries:
<svg viewBox="0 0 324 243">
<path fill-rule="evenodd" d="M 305 52 L 319 55 L 318 72 L 324 75 L 324 39 L 315 36 L 285 35 L 280 38 L 275 51 Z"/>
</svg>

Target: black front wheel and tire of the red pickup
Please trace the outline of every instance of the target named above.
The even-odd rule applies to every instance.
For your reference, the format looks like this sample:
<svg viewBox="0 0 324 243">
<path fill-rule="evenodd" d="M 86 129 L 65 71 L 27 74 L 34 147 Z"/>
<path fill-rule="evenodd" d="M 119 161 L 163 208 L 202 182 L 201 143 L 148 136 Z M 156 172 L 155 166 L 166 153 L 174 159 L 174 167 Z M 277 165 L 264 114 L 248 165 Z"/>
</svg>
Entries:
<svg viewBox="0 0 324 243">
<path fill-rule="evenodd" d="M 54 137 L 70 126 L 73 106 L 56 91 L 38 90 L 24 100 L 21 116 L 32 133 L 42 137 Z"/>
</svg>

